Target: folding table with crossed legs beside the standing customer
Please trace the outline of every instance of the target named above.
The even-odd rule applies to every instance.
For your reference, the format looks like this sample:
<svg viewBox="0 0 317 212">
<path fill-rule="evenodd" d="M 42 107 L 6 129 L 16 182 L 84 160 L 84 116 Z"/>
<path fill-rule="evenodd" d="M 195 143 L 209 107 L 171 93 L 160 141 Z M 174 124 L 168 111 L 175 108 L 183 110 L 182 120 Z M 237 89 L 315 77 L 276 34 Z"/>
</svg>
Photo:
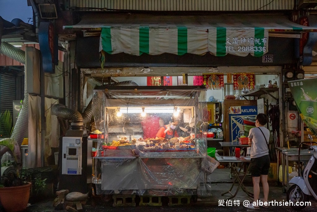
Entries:
<svg viewBox="0 0 317 212">
<path fill-rule="evenodd" d="M 245 156 L 241 156 L 240 158 L 236 158 L 235 156 L 219 156 L 219 155 L 215 155 L 216 157 L 216 160 L 219 161 L 220 163 L 229 163 L 229 168 L 230 168 L 230 171 L 233 173 L 233 175 L 235 176 L 235 179 L 232 183 L 232 186 L 231 188 L 229 189 L 229 191 L 221 194 L 222 196 L 225 195 L 225 194 L 230 194 L 231 196 L 229 198 L 227 198 L 226 200 L 230 200 L 232 199 L 233 197 L 235 197 L 237 194 L 238 194 L 238 191 L 240 188 L 242 188 L 242 190 L 249 196 L 249 197 L 252 197 L 253 198 L 253 194 L 250 193 L 244 186 L 243 184 L 243 180 L 245 178 L 245 176 L 247 175 L 247 172 L 248 172 L 248 169 L 249 169 L 249 166 L 250 166 L 250 161 L 251 161 L 251 158 L 250 157 L 245 157 Z M 247 170 L 245 170 L 244 174 L 243 174 L 243 177 L 242 179 L 240 179 L 240 172 L 241 172 L 241 168 L 238 170 L 236 164 L 237 163 L 241 163 L 241 166 L 244 164 L 244 163 L 249 163 L 248 165 L 248 168 Z M 231 190 L 232 188 L 234 187 L 236 181 L 239 182 L 238 184 L 238 188 L 236 189 L 236 193 L 232 194 L 231 193 Z"/>
</svg>

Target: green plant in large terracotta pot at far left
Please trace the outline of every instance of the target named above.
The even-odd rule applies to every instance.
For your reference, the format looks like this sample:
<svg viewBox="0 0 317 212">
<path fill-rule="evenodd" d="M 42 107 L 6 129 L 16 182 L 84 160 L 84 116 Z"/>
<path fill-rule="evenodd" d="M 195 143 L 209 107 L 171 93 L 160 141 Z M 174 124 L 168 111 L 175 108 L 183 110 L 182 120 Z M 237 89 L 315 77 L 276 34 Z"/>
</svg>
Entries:
<svg viewBox="0 0 317 212">
<path fill-rule="evenodd" d="M 12 116 L 9 110 L 0 113 L 0 145 L 10 149 L 10 153 L 17 165 L 17 155 L 14 151 L 16 141 L 11 139 L 13 131 Z M 25 181 L 23 174 L 19 173 L 16 167 L 16 173 L 10 172 L 7 176 L 1 178 L 0 184 L 0 202 L 5 211 L 23 211 L 29 202 L 30 188 L 32 183 Z"/>
</svg>

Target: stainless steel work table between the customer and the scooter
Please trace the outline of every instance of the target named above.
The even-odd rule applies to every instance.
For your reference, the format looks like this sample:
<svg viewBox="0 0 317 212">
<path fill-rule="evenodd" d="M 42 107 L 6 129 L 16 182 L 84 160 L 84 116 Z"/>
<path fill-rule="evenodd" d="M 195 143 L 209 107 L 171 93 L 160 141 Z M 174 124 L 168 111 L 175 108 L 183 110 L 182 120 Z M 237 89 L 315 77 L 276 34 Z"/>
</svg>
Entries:
<svg viewBox="0 0 317 212">
<path fill-rule="evenodd" d="M 288 148 L 285 147 L 276 147 L 277 151 L 281 153 L 281 161 L 282 161 L 282 189 L 283 192 L 288 191 L 289 188 L 289 173 L 286 171 L 286 167 L 288 170 L 288 162 L 289 161 L 298 161 L 298 148 L 292 148 L 291 150 L 288 150 Z M 297 149 L 297 150 L 296 150 Z M 313 155 L 313 152 L 301 149 L 301 157 L 300 161 L 308 161 L 310 157 Z M 286 176 L 285 176 L 286 174 Z M 286 178 L 286 179 L 285 179 Z M 285 184 L 286 180 L 286 184 Z"/>
</svg>

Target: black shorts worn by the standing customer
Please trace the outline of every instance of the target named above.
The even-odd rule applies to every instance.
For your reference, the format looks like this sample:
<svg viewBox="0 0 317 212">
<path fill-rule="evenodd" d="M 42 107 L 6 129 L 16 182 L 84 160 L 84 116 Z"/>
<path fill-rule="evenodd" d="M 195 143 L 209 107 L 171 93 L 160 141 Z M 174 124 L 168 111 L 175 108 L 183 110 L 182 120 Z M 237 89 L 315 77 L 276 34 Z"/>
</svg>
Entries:
<svg viewBox="0 0 317 212">
<path fill-rule="evenodd" d="M 268 175 L 270 168 L 270 156 L 264 155 L 258 158 L 251 158 L 250 172 L 252 177 L 260 177 L 260 175 Z"/>
</svg>

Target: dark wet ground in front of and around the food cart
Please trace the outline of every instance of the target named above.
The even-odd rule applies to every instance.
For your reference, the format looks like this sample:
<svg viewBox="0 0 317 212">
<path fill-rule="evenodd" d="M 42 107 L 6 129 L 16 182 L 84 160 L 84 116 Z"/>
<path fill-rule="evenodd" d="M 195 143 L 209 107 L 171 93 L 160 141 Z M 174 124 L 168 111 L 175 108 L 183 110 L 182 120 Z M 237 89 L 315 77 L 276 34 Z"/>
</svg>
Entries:
<svg viewBox="0 0 317 212">
<path fill-rule="evenodd" d="M 203 176 L 201 181 L 203 182 Z M 229 169 L 216 169 L 212 174 L 208 176 L 207 187 L 204 186 L 204 183 L 201 183 L 200 188 L 198 189 L 198 199 L 197 202 L 191 199 L 190 204 L 182 204 L 182 205 L 173 205 L 168 206 L 167 199 L 163 199 L 162 206 L 126 206 L 126 207 L 113 207 L 112 201 L 106 201 L 103 196 L 94 196 L 92 195 L 90 199 L 88 199 L 87 204 L 83 205 L 82 211 L 91 211 L 91 212 L 99 212 L 99 211 L 253 211 L 253 209 L 246 209 L 243 206 L 244 201 L 252 201 L 253 199 L 246 195 L 242 189 L 239 190 L 236 197 L 232 198 L 231 201 L 225 202 L 226 198 L 230 195 L 221 195 L 225 191 L 228 191 L 232 185 L 233 180 L 230 179 Z M 252 179 L 250 176 L 244 181 L 246 189 L 252 192 Z M 236 191 L 236 185 L 233 188 L 233 192 Z M 276 204 L 285 205 L 286 193 L 282 192 L 281 183 L 276 181 L 269 181 L 269 201 L 275 201 Z M 262 189 L 262 188 L 261 188 Z M 262 192 L 262 190 L 261 190 Z M 260 199 L 262 198 L 262 194 L 260 193 Z M 37 202 L 36 204 L 29 205 L 25 211 L 35 212 L 35 211 L 67 211 L 65 207 L 63 210 L 54 210 L 53 207 L 54 198 L 50 198 L 41 202 Z M 307 206 L 305 209 L 301 211 L 316 211 L 317 202 L 314 198 L 310 198 L 311 206 Z M 224 206 L 221 206 L 223 204 Z M 227 205 L 227 206 L 226 206 Z M 232 205 L 232 206 L 231 206 Z M 290 206 L 270 206 L 269 208 L 261 207 L 260 210 L 257 211 L 295 211 Z"/>
</svg>

